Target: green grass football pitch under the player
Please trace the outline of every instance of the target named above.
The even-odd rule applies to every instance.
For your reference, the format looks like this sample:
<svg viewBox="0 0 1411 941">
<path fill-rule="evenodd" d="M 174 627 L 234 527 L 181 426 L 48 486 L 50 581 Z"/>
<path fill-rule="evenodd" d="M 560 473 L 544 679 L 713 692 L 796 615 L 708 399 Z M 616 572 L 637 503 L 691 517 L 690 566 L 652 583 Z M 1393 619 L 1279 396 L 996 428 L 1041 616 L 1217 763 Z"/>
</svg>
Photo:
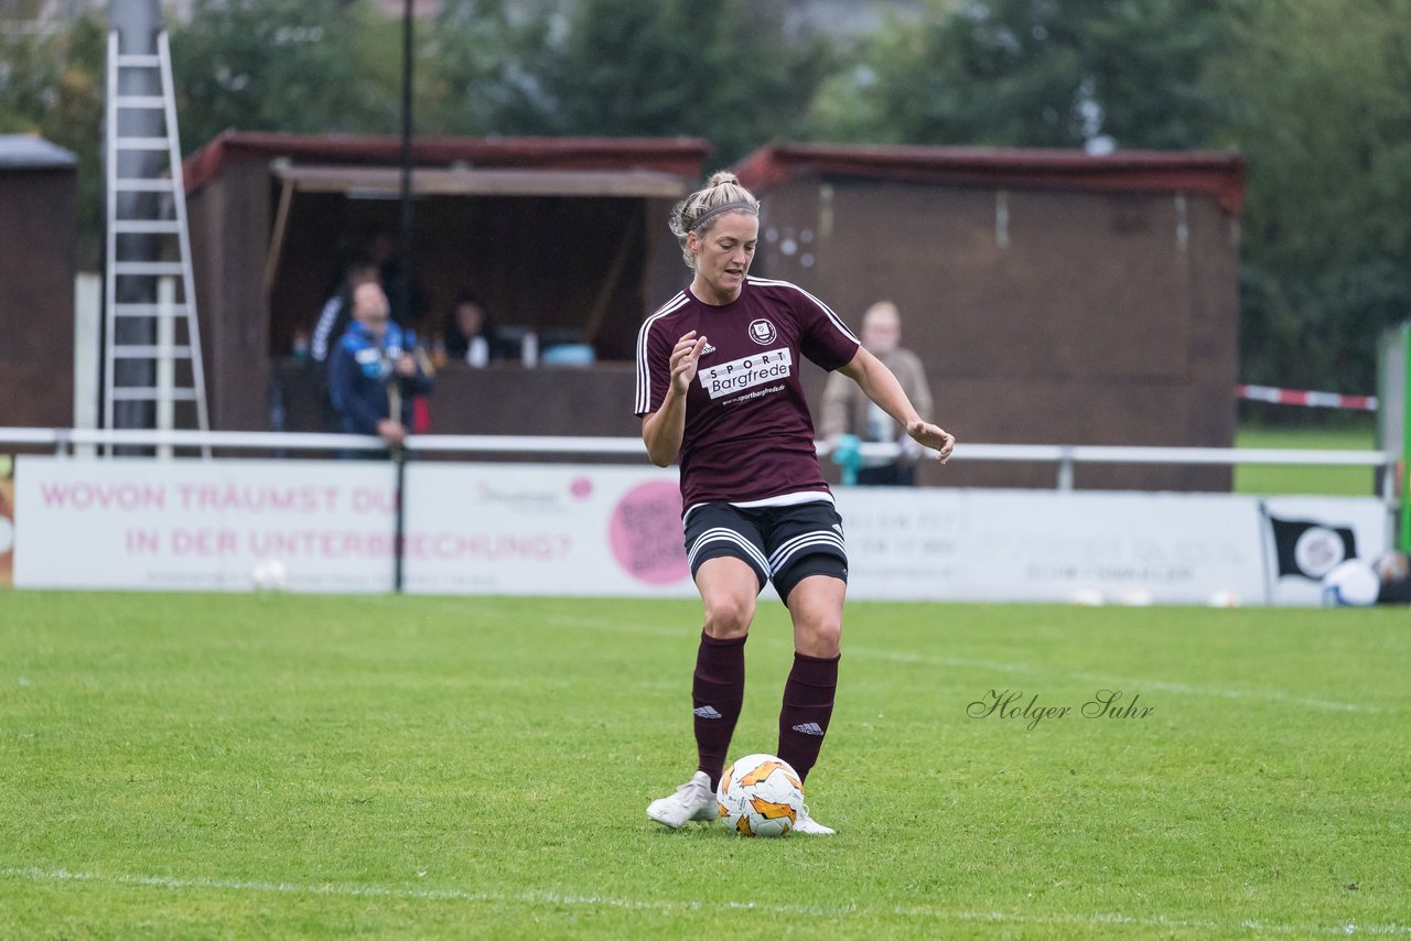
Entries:
<svg viewBox="0 0 1411 941">
<path fill-rule="evenodd" d="M 1411 934 L 1405 609 L 851 604 L 831 839 L 646 820 L 693 770 L 697 625 L 0 593 L 0 937 Z M 762 601 L 735 753 L 775 749 L 789 656 Z M 1072 711 L 968 715 L 992 690 Z"/>
</svg>

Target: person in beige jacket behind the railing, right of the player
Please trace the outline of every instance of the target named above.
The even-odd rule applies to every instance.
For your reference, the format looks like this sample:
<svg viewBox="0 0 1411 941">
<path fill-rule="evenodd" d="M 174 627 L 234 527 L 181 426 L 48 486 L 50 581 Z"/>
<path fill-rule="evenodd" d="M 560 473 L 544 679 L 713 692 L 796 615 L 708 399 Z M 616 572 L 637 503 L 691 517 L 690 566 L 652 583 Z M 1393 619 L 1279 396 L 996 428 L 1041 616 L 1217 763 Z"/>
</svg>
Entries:
<svg viewBox="0 0 1411 941">
<path fill-rule="evenodd" d="M 879 300 L 862 315 L 862 346 L 892 370 L 917 415 L 931 420 L 931 389 L 920 357 L 902 346 L 902 315 L 890 300 Z M 856 382 L 832 372 L 823 388 L 820 436 L 837 446 L 840 436 L 855 435 L 862 442 L 897 443 L 902 453 L 892 460 L 868 461 L 858 470 L 864 487 L 914 487 L 917 449 L 912 437 L 882 408 L 862 394 Z"/>
</svg>

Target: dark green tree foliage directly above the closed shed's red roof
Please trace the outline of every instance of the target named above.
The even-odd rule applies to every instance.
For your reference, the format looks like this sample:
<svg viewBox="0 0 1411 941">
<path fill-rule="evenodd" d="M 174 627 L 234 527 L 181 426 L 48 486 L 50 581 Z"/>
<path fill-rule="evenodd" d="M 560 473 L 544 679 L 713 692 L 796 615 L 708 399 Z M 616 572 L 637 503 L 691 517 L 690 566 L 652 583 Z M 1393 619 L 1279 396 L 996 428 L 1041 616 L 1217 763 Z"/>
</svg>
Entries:
<svg viewBox="0 0 1411 941">
<path fill-rule="evenodd" d="M 817 135 L 906 144 L 1181 148 L 1221 100 L 1202 82 L 1219 48 L 1201 0 L 931 0 L 892 20 L 814 102 Z"/>
</svg>

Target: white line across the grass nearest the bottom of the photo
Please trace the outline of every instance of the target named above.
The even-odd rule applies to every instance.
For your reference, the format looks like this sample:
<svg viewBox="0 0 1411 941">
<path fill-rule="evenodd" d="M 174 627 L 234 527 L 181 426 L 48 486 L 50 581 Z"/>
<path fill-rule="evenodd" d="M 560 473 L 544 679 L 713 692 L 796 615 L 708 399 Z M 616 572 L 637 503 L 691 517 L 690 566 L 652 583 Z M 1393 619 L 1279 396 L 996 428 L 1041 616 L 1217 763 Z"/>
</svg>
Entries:
<svg viewBox="0 0 1411 941">
<path fill-rule="evenodd" d="M 262 882 L 247 879 L 209 879 L 203 876 L 137 876 L 127 873 L 72 872 L 69 869 L 10 868 L 0 869 L 0 879 L 17 879 L 40 883 L 92 882 L 111 886 L 141 886 L 150 889 L 216 889 L 224 892 L 246 892 L 260 894 L 308 894 L 336 899 L 405 899 L 413 901 L 466 901 L 473 904 L 553 904 L 564 907 L 625 909 L 635 911 L 713 911 L 746 910 L 768 914 L 799 917 L 838 918 L 847 916 L 903 916 L 933 918 L 940 921 L 1030 925 L 1133 925 L 1137 928 L 1194 928 L 1201 931 L 1250 930 L 1270 934 L 1384 934 L 1411 935 L 1408 924 L 1338 924 L 1338 925 L 1285 925 L 1268 924 L 1253 918 L 1237 923 L 1189 921 L 1164 916 L 1127 916 L 1118 913 L 1094 914 L 1022 914 L 1010 911 L 965 911 L 940 909 L 935 906 L 892 906 L 865 909 L 859 906 L 790 906 L 775 901 L 682 901 L 665 899 L 617 899 L 600 894 L 564 894 L 557 892 L 467 892 L 464 889 L 399 889 L 396 886 Z"/>
</svg>

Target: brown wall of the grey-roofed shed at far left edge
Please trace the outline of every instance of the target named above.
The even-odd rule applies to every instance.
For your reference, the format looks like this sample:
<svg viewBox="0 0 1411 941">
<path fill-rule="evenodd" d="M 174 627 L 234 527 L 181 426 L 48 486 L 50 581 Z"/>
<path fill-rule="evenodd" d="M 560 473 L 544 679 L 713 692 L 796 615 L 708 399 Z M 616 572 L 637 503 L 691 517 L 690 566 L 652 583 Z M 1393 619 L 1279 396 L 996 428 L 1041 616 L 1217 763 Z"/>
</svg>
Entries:
<svg viewBox="0 0 1411 941">
<path fill-rule="evenodd" d="M 0 425 L 73 423 L 73 168 L 0 174 Z"/>
</svg>

